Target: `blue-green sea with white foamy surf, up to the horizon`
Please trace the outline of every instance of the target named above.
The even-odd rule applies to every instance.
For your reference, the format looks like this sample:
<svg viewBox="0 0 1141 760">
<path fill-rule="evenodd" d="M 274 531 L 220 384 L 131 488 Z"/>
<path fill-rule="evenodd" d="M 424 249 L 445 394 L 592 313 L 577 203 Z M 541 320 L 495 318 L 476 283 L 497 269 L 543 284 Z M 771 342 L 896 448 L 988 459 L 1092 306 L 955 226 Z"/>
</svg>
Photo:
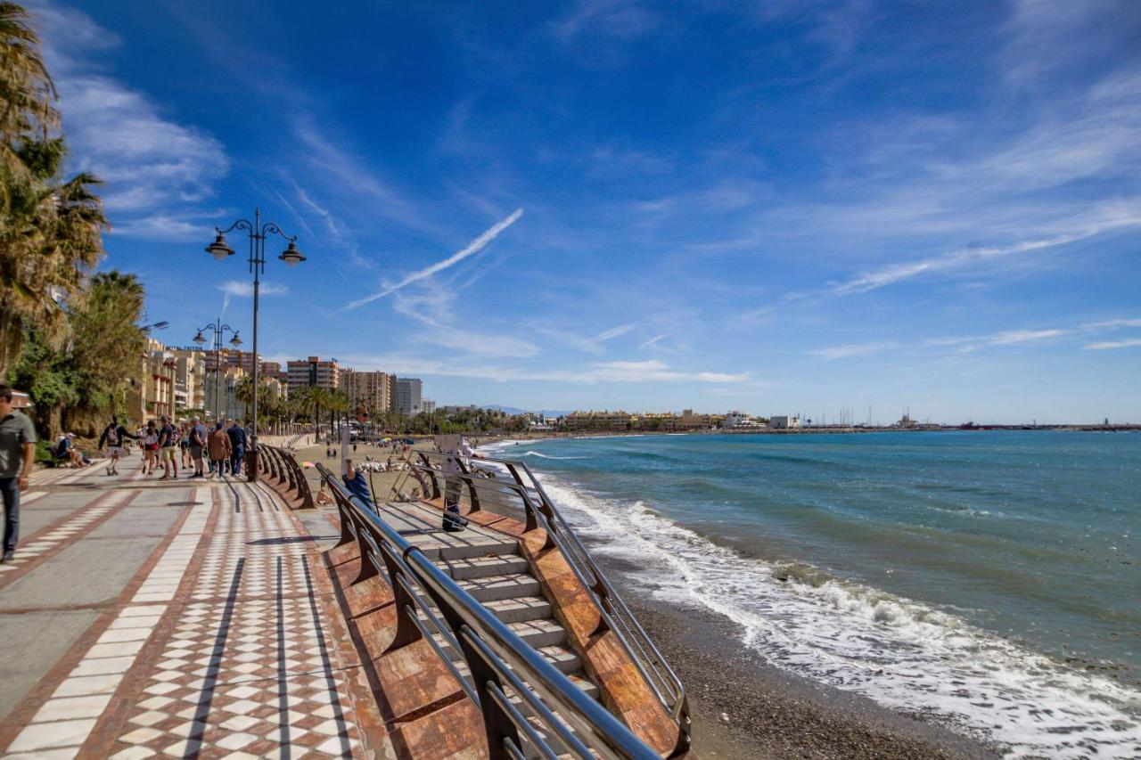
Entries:
<svg viewBox="0 0 1141 760">
<path fill-rule="evenodd" d="M 1010 757 L 1141 757 L 1141 434 L 504 442 L 622 587 Z M 488 451 L 484 448 L 483 451 Z"/>
</svg>

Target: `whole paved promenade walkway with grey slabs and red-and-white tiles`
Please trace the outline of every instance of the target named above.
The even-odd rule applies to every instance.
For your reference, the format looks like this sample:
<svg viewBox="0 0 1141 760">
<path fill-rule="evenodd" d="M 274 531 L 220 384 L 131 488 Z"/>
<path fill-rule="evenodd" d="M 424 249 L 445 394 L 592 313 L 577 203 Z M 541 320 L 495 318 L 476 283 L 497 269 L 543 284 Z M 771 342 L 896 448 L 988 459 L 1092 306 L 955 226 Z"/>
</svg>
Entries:
<svg viewBox="0 0 1141 760">
<path fill-rule="evenodd" d="M 0 753 L 365 757 L 379 717 L 341 644 L 326 515 L 139 466 L 39 471 L 23 496 L 0 565 Z"/>
</svg>

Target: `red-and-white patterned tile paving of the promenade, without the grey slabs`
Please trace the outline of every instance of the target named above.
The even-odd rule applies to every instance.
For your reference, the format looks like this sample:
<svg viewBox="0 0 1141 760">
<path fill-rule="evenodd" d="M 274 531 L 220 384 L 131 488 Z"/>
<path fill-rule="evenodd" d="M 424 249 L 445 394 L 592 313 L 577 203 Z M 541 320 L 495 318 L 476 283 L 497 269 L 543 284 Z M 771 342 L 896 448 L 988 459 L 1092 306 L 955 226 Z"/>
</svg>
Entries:
<svg viewBox="0 0 1141 760">
<path fill-rule="evenodd" d="M 0 722 L 5 757 L 364 757 L 348 689 L 358 665 L 331 633 L 324 568 L 301 524 L 264 486 L 140 483 L 124 464 L 18 555 L 66 543 L 139 493 L 169 493 L 178 520 L 122 604 Z"/>
</svg>

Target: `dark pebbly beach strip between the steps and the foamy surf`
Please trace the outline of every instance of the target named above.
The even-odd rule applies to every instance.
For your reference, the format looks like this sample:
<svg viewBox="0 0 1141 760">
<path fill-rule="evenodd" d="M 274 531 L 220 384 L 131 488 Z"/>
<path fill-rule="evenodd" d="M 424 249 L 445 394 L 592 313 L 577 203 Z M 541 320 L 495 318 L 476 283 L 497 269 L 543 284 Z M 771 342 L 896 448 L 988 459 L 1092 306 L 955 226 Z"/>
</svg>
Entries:
<svg viewBox="0 0 1141 760">
<path fill-rule="evenodd" d="M 653 599 L 623 582 L 624 572 L 637 566 L 609 556 L 596 559 L 686 687 L 697 757 L 1001 757 L 997 747 L 925 715 L 907 715 L 768 664 L 742 644 L 733 621 L 696 605 Z"/>
</svg>

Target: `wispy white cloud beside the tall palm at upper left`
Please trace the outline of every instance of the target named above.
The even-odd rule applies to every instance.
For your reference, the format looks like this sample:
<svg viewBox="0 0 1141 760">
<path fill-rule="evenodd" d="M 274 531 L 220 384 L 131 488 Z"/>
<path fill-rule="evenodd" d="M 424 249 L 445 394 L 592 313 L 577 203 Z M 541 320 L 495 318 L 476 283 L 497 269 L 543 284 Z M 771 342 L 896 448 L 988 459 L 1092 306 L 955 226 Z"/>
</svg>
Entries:
<svg viewBox="0 0 1141 760">
<path fill-rule="evenodd" d="M 119 39 L 87 14 L 32 7 L 59 92 L 72 170 L 105 183 L 104 207 L 118 234 L 189 240 L 210 227 L 193 219 L 229 170 L 221 143 L 163 114 L 144 94 L 98 73 L 98 54 Z"/>
</svg>

